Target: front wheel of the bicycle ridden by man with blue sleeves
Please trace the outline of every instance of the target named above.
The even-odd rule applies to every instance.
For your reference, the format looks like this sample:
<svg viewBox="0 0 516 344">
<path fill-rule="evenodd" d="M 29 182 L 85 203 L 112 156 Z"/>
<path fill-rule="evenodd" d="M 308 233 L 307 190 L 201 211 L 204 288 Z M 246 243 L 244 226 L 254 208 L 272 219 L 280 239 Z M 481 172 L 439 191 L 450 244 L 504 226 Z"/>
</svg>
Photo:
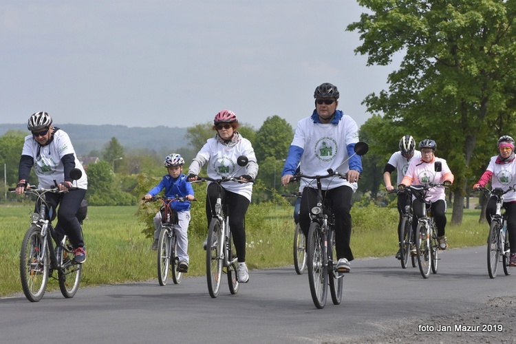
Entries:
<svg viewBox="0 0 516 344">
<path fill-rule="evenodd" d="M 312 222 L 308 230 L 308 283 L 316 308 L 324 308 L 327 297 L 328 270 L 323 261 L 323 239 L 321 226 Z"/>
</svg>

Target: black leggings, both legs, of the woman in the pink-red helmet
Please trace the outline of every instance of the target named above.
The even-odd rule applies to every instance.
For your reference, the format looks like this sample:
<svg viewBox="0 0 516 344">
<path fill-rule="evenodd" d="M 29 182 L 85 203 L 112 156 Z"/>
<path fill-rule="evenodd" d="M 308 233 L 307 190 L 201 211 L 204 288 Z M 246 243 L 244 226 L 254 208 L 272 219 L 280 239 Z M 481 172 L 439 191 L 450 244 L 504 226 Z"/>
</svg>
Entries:
<svg viewBox="0 0 516 344">
<path fill-rule="evenodd" d="M 216 183 L 208 185 L 208 190 L 206 191 L 208 227 L 210 226 L 212 213 L 215 213 L 215 203 L 217 203 L 218 195 L 218 185 Z M 222 188 L 222 200 L 222 203 L 228 206 L 229 226 L 231 233 L 233 233 L 233 244 L 235 244 L 238 261 L 246 261 L 246 228 L 244 226 L 244 219 L 250 202 L 246 197 L 227 191 L 224 188 Z"/>
</svg>

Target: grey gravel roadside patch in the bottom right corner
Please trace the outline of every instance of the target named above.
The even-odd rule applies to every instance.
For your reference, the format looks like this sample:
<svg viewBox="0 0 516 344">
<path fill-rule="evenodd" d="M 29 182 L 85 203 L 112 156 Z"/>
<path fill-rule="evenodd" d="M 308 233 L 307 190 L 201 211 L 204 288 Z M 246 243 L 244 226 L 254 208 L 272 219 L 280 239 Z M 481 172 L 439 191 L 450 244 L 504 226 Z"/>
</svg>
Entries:
<svg viewBox="0 0 516 344">
<path fill-rule="evenodd" d="M 500 297 L 468 312 L 378 324 L 383 334 L 338 343 L 516 343 L 515 320 L 516 297 Z"/>
</svg>

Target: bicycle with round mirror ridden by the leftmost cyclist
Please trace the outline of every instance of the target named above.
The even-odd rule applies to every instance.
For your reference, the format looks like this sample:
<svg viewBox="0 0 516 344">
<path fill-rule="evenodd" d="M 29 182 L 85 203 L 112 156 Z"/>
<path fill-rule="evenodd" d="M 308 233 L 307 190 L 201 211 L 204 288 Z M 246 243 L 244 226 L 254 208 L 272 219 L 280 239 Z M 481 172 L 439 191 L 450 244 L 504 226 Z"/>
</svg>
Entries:
<svg viewBox="0 0 516 344">
<path fill-rule="evenodd" d="M 78 169 L 76 171 L 80 172 Z M 82 173 L 74 179 L 79 179 L 80 175 Z M 68 190 L 73 192 L 76 189 L 73 187 Z M 16 188 L 9 188 L 9 191 L 15 190 Z M 56 231 L 52 226 L 54 216 L 50 213 L 55 215 L 56 209 L 45 200 L 45 193 L 66 192 L 59 190 L 57 186 L 50 189 L 36 189 L 34 186 L 25 189 L 25 193 L 36 196 L 36 204 L 39 204 L 39 211 L 31 215 L 32 223 L 23 237 L 20 252 L 21 286 L 25 297 L 32 302 L 43 298 L 49 277 L 58 280 L 59 289 L 67 299 L 74 297 L 79 288 L 83 266 L 74 263 L 74 248 L 66 235 L 54 247 L 53 238 L 56 237 Z M 85 204 L 81 206 L 85 207 Z M 84 217 L 78 218 L 82 225 L 86 209 L 82 209 L 80 213 L 84 214 Z M 54 271 L 57 272 L 57 278 L 54 277 Z"/>
</svg>

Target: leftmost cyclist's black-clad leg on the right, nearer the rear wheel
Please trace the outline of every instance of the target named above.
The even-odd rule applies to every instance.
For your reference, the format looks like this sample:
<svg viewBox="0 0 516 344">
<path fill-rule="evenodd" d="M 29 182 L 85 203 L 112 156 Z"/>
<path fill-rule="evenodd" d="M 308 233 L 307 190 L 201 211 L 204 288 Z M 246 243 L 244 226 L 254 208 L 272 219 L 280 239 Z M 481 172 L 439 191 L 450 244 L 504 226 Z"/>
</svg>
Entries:
<svg viewBox="0 0 516 344">
<path fill-rule="evenodd" d="M 76 214 L 80 207 L 80 202 L 82 202 L 85 194 L 85 189 L 63 193 L 61 194 L 61 202 L 59 202 L 60 205 L 57 212 L 56 231 L 58 233 L 64 232 L 68 235 L 74 248 L 84 246 L 83 233 L 80 229 L 80 223 Z"/>
</svg>

